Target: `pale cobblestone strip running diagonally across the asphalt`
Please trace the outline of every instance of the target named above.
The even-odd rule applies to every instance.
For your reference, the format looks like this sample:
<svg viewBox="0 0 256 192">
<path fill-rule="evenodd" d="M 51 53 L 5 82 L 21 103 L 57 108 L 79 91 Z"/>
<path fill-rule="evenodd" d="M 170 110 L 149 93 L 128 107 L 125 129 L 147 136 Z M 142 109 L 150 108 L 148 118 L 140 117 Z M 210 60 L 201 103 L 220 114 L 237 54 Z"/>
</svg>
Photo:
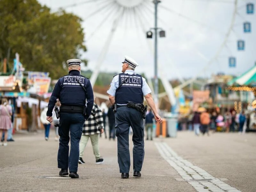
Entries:
<svg viewBox="0 0 256 192">
<path fill-rule="evenodd" d="M 198 192 L 241 192 L 181 158 L 164 142 L 155 142 L 161 156 Z"/>
</svg>

